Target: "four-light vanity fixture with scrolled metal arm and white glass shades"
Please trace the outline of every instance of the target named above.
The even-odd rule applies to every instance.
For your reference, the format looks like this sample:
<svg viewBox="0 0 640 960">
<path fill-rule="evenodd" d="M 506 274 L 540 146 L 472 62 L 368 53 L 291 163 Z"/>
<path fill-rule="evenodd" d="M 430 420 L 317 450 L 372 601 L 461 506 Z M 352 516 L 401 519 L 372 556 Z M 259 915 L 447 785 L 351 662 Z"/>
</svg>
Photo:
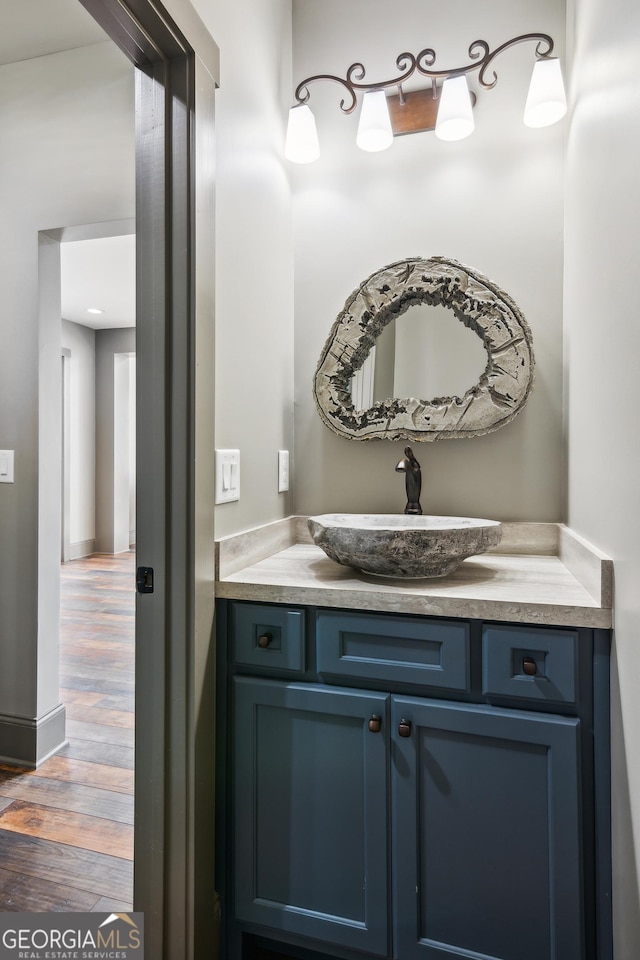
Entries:
<svg viewBox="0 0 640 960">
<path fill-rule="evenodd" d="M 469 47 L 469 58 L 474 61 L 451 70 L 433 70 L 435 50 L 426 48 L 417 56 L 401 53 L 396 58 L 399 76 L 378 83 L 364 82 L 365 68 L 352 63 L 344 77 L 319 73 L 307 77 L 295 91 L 296 104 L 289 111 L 285 156 L 294 163 L 309 163 L 320 155 L 315 120 L 307 106 L 309 85 L 320 80 L 340 84 L 348 96 L 340 101 L 343 113 L 353 113 L 362 92 L 362 106 L 356 143 L 362 150 L 385 150 L 394 136 L 435 130 L 441 140 L 461 140 L 474 128 L 473 106 L 476 102 L 467 84 L 467 75 L 478 71 L 478 83 L 485 90 L 496 85 L 495 71 L 487 71 L 499 54 L 517 43 L 536 41 L 533 74 L 524 111 L 524 123 L 530 127 L 545 127 L 560 120 L 567 111 L 560 61 L 552 57 L 553 40 L 546 33 L 524 33 L 506 43 L 489 48 L 484 40 L 474 40 Z M 423 90 L 405 91 L 403 84 L 414 74 L 427 77 L 431 85 Z M 397 89 L 387 95 L 385 90 Z"/>
</svg>

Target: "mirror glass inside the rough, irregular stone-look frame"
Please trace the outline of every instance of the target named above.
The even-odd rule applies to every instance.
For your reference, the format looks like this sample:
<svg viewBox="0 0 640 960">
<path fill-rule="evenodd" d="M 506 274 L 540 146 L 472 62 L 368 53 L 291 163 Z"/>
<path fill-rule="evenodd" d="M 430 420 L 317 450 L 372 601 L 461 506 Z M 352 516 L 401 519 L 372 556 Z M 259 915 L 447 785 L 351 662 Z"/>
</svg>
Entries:
<svg viewBox="0 0 640 960">
<path fill-rule="evenodd" d="M 446 307 L 416 303 L 382 330 L 351 378 L 357 411 L 391 397 L 463 397 L 487 366 L 482 340 Z"/>
</svg>

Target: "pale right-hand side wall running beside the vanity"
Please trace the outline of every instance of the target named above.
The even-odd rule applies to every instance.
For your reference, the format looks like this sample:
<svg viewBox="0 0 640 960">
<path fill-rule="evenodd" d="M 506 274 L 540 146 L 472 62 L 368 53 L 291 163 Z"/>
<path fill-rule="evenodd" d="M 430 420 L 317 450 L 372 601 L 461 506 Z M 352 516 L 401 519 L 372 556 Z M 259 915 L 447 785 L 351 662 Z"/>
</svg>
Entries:
<svg viewBox="0 0 640 960">
<path fill-rule="evenodd" d="M 615 564 L 616 960 L 640 956 L 640 7 L 577 0 L 566 176 L 568 522 Z"/>
</svg>

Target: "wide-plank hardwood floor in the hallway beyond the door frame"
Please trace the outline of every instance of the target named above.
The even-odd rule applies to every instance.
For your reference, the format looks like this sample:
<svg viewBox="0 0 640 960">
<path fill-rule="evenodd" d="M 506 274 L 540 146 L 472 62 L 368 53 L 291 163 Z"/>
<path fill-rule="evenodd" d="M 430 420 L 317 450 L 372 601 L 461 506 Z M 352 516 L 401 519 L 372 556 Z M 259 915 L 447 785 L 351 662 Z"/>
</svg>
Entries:
<svg viewBox="0 0 640 960">
<path fill-rule="evenodd" d="M 0 911 L 133 909 L 135 554 L 61 568 L 68 745 L 0 765 Z"/>
</svg>

